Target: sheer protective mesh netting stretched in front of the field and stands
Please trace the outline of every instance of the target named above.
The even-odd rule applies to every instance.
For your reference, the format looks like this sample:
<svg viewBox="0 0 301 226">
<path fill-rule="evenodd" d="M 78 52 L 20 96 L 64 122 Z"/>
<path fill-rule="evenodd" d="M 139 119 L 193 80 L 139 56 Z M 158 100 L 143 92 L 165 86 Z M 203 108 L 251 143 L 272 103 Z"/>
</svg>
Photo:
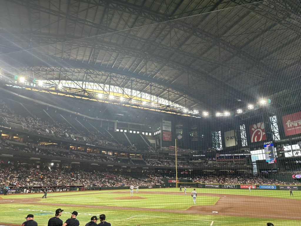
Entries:
<svg viewBox="0 0 301 226">
<path fill-rule="evenodd" d="M 0 55 L 1 225 L 301 225 L 300 6 Z"/>
</svg>

